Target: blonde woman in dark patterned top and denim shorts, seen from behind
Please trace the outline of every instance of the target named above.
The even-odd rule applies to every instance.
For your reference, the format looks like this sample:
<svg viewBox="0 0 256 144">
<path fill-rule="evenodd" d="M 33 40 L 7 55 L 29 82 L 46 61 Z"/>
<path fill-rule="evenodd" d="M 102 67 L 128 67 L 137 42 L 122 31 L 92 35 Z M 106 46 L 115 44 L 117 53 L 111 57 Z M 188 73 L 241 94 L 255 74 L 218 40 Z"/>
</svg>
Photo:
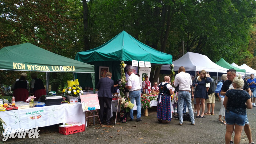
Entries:
<svg viewBox="0 0 256 144">
<path fill-rule="evenodd" d="M 226 108 L 226 144 L 229 144 L 233 131 L 235 132 L 234 143 L 240 143 L 241 132 L 246 120 L 246 108 L 252 109 L 252 102 L 248 92 L 242 89 L 244 81 L 241 75 L 235 77 L 232 86 L 226 92 L 223 105 Z"/>
</svg>

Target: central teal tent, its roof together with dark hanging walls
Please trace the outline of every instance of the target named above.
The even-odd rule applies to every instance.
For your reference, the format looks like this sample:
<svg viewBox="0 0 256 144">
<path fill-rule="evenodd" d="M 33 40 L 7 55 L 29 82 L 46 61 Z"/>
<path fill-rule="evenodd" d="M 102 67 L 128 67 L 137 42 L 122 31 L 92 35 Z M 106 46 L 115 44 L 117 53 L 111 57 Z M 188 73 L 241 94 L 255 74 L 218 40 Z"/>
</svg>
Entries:
<svg viewBox="0 0 256 144">
<path fill-rule="evenodd" d="M 121 77 L 119 64 L 122 60 L 127 65 L 131 65 L 132 60 L 150 61 L 151 65 L 172 64 L 172 55 L 141 43 L 125 31 L 97 48 L 77 53 L 75 59 L 95 66 L 96 83 L 99 81 L 99 66 L 109 67 L 113 80 L 119 79 Z M 86 74 L 76 74 L 75 77 L 88 79 Z M 90 81 L 83 86 L 88 84 Z"/>
</svg>

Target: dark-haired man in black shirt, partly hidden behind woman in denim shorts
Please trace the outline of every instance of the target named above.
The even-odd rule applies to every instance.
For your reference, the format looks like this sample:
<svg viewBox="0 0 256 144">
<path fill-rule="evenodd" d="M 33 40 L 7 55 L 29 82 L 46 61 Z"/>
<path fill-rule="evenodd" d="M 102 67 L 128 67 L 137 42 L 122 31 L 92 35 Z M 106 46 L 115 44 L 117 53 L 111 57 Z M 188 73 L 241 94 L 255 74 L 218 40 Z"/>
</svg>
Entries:
<svg viewBox="0 0 256 144">
<path fill-rule="evenodd" d="M 237 76 L 236 73 L 237 73 L 237 71 L 234 70 L 234 69 L 227 70 L 228 80 L 224 81 L 224 83 L 221 87 L 220 95 L 225 96 L 226 92 L 229 89 L 233 89 L 232 81 Z M 242 89 L 246 90 L 249 93 L 250 96 L 252 95 L 252 91 L 251 91 L 251 89 L 250 89 L 250 87 L 249 87 L 249 85 L 248 85 L 248 83 L 245 79 L 244 79 L 244 87 Z M 252 132 L 251 132 L 251 128 L 249 126 L 249 121 L 248 121 L 247 115 L 246 115 L 246 121 L 245 121 L 245 125 L 244 125 L 244 132 L 247 135 L 247 138 L 249 140 L 249 144 L 252 144 L 252 143 L 254 144 L 254 142 L 252 142 Z"/>
</svg>

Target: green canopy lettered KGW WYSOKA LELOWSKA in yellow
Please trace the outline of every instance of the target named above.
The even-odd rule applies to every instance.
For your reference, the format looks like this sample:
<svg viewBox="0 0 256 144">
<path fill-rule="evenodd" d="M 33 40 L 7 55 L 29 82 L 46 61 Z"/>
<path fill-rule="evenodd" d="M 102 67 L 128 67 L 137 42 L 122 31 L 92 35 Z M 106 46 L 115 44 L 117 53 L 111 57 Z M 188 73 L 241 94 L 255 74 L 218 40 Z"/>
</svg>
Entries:
<svg viewBox="0 0 256 144">
<path fill-rule="evenodd" d="M 94 80 L 93 65 L 57 55 L 30 43 L 4 47 L 0 50 L 0 57 L 1 70 L 90 73 Z"/>
</svg>

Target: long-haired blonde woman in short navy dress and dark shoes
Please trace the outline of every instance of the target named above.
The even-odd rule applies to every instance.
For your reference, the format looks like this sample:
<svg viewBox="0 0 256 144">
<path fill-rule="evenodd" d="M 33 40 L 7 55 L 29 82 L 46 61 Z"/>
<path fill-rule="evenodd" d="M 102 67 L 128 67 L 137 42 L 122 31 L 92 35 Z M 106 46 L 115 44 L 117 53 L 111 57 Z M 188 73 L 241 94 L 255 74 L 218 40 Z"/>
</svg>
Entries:
<svg viewBox="0 0 256 144">
<path fill-rule="evenodd" d="M 211 78 L 206 76 L 206 71 L 202 70 L 200 72 L 199 78 L 194 80 L 193 87 L 196 87 L 194 98 L 196 98 L 196 103 L 199 104 L 201 101 L 202 114 L 199 113 L 200 105 L 196 105 L 197 115 L 196 118 L 204 118 L 205 111 L 205 99 L 209 98 L 206 90 L 206 83 L 210 83 Z"/>
</svg>

